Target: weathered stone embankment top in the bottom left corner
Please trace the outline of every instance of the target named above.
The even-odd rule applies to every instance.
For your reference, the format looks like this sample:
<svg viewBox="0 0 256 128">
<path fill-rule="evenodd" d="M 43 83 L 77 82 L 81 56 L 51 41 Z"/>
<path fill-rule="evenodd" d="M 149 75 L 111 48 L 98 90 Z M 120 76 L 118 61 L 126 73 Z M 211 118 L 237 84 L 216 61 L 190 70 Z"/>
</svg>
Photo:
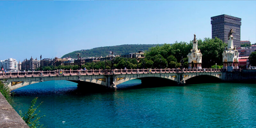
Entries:
<svg viewBox="0 0 256 128">
<path fill-rule="evenodd" d="M 29 128 L 0 92 L 0 128 Z"/>
</svg>

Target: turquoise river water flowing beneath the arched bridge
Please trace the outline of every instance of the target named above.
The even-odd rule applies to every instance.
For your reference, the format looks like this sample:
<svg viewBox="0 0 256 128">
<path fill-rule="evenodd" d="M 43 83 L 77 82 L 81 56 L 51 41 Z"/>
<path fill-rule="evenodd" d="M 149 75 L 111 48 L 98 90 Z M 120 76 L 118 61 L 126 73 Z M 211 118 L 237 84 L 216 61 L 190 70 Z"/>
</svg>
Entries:
<svg viewBox="0 0 256 128">
<path fill-rule="evenodd" d="M 34 97 L 44 101 L 40 123 L 47 128 L 256 127 L 256 85 L 193 84 L 83 94 L 76 83 L 49 81 L 15 90 L 15 110 Z"/>
</svg>

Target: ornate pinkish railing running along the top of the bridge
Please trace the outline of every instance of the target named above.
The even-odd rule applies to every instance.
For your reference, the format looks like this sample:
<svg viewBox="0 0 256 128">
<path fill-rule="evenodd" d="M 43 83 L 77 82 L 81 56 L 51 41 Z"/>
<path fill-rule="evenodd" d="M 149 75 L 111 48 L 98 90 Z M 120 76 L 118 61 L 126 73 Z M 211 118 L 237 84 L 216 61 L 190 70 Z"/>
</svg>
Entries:
<svg viewBox="0 0 256 128">
<path fill-rule="evenodd" d="M 195 72 L 222 72 L 225 69 L 113 69 L 113 70 L 63 70 L 62 76 L 77 75 L 113 75 L 113 74 L 154 74 L 154 73 L 195 73 Z M 234 71 L 241 71 L 234 69 Z M 0 79 L 13 77 L 41 77 L 41 76 L 61 76 L 59 70 L 55 71 L 28 71 L 28 72 L 1 72 Z"/>
</svg>

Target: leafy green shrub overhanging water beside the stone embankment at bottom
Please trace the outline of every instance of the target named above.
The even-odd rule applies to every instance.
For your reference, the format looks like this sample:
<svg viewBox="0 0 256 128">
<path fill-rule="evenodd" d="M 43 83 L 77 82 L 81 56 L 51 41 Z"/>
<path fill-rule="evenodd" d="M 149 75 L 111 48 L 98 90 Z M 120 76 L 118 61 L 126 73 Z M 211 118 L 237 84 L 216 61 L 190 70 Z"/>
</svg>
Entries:
<svg viewBox="0 0 256 128">
<path fill-rule="evenodd" d="M 19 114 L 21 118 L 28 124 L 29 128 L 44 128 L 43 124 L 39 124 L 39 119 L 43 117 L 38 115 L 40 110 L 36 113 L 36 110 L 40 107 L 40 105 L 43 102 L 41 102 L 38 106 L 36 106 L 36 108 L 34 108 L 36 101 L 37 97 L 31 101 L 31 105 L 28 108 L 28 111 L 25 113 L 25 115 L 23 115 L 21 110 L 19 110 Z"/>
</svg>

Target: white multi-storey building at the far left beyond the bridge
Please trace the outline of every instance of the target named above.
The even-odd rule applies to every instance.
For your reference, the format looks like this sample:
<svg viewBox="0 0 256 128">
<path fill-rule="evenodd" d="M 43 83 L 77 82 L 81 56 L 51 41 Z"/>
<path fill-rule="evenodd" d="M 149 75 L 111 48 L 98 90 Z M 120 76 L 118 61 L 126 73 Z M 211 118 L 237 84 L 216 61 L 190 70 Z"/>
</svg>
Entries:
<svg viewBox="0 0 256 128">
<path fill-rule="evenodd" d="M 9 58 L 7 60 L 1 60 L 0 66 L 6 69 L 7 72 L 9 71 L 18 71 L 18 62 L 16 59 Z"/>
</svg>

